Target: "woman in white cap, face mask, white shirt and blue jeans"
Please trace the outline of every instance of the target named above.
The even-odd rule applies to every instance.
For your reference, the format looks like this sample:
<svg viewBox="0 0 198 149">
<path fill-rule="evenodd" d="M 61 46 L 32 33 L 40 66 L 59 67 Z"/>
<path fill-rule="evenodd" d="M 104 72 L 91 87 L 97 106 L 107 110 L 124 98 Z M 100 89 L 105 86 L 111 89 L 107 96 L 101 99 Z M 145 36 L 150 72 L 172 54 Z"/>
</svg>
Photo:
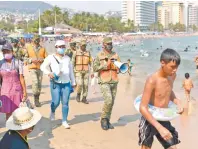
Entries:
<svg viewBox="0 0 198 149">
<path fill-rule="evenodd" d="M 51 114 L 50 119 L 55 120 L 55 111 L 62 103 L 62 125 L 69 129 L 67 116 L 69 112 L 69 99 L 72 89 L 76 86 L 73 66 L 69 56 L 65 55 L 65 41 L 55 43 L 56 53 L 49 55 L 41 65 L 41 70 L 50 78 Z"/>
</svg>

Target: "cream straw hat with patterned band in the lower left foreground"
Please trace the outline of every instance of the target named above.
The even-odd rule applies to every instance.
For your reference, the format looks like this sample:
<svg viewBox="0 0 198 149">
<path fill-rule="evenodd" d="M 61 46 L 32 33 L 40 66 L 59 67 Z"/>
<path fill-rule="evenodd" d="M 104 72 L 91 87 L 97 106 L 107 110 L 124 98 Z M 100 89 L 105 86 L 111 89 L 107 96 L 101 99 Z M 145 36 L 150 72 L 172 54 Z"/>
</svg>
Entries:
<svg viewBox="0 0 198 149">
<path fill-rule="evenodd" d="M 21 107 L 13 112 L 6 122 L 6 127 L 10 130 L 25 130 L 36 125 L 40 119 L 41 114 L 38 111 Z"/>
</svg>

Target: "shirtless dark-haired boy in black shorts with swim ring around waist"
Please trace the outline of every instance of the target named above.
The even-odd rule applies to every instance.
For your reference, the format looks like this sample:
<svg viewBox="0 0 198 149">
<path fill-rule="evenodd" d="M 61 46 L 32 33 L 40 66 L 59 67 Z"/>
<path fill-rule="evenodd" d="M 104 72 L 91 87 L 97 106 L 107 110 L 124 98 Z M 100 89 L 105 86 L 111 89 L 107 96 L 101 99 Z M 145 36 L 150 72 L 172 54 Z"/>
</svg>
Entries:
<svg viewBox="0 0 198 149">
<path fill-rule="evenodd" d="M 139 145 L 141 145 L 141 149 L 150 149 L 154 136 L 165 149 L 176 149 L 176 144 L 180 143 L 178 133 L 171 123 L 155 120 L 148 111 L 148 104 L 168 108 L 168 103 L 171 100 L 178 106 L 178 113 L 183 112 L 180 100 L 172 91 L 173 76 L 180 64 L 180 56 L 176 51 L 166 49 L 161 54 L 160 63 L 161 68 L 146 80 L 140 104 L 142 118 L 139 125 Z"/>
</svg>

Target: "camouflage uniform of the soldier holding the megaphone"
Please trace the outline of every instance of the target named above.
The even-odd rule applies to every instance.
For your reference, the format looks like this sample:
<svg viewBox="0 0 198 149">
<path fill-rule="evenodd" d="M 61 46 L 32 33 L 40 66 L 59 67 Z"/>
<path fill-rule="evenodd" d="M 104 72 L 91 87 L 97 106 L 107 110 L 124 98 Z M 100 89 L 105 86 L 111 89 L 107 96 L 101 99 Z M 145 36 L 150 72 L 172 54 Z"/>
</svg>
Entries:
<svg viewBox="0 0 198 149">
<path fill-rule="evenodd" d="M 106 56 L 107 56 L 107 58 L 110 58 L 114 54 L 115 54 L 115 52 L 112 51 L 111 53 L 107 54 Z M 118 59 L 118 61 L 120 61 L 120 59 Z M 107 120 L 107 125 L 109 125 L 109 127 L 113 128 L 113 126 L 110 124 L 109 121 L 111 118 L 111 112 L 113 109 L 113 105 L 114 105 L 114 101 L 115 101 L 115 97 L 116 97 L 116 93 L 117 93 L 118 81 L 110 80 L 109 82 L 103 82 L 100 77 L 100 71 L 106 70 L 106 69 L 107 69 L 107 65 L 101 65 L 99 56 L 97 55 L 94 60 L 93 70 L 95 72 L 99 72 L 99 85 L 100 85 L 100 89 L 102 92 L 102 96 L 104 98 L 104 106 L 103 106 L 102 114 L 101 114 L 101 123 L 102 123 L 102 120 Z M 105 129 L 105 130 L 107 130 L 107 129 Z"/>
</svg>

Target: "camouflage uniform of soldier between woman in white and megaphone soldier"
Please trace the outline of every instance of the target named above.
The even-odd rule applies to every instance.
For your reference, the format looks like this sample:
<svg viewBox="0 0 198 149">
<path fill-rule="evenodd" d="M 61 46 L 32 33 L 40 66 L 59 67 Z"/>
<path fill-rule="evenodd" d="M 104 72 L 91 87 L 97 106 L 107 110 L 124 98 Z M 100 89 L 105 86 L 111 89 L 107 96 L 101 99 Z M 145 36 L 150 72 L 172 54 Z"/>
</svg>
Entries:
<svg viewBox="0 0 198 149">
<path fill-rule="evenodd" d="M 81 50 L 79 50 L 80 52 L 82 53 L 85 53 Z M 72 58 L 72 63 L 73 63 L 73 66 L 74 66 L 74 73 L 75 73 L 75 76 L 76 76 L 76 84 L 77 84 L 77 101 L 79 102 L 80 100 L 80 96 L 82 94 L 82 102 L 88 104 L 88 101 L 87 101 L 87 94 L 88 94 L 88 84 L 89 84 L 89 70 L 88 71 L 77 71 L 75 69 L 76 67 L 76 53 L 75 52 L 73 54 L 73 58 Z M 90 58 L 89 58 L 89 66 L 91 67 L 91 64 L 92 64 L 92 57 L 91 57 L 91 54 L 89 53 L 90 55 Z"/>
</svg>

